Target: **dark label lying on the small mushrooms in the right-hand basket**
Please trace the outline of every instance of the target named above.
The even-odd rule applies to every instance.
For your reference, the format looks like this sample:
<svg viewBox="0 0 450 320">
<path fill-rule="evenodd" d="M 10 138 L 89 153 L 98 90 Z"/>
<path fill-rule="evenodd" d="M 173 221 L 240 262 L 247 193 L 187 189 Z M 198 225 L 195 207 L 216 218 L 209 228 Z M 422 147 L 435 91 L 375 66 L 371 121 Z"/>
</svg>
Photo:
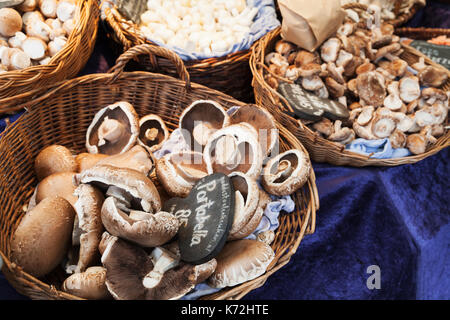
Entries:
<svg viewBox="0 0 450 320">
<path fill-rule="evenodd" d="M 294 113 L 301 119 L 318 121 L 323 117 L 331 120 L 347 119 L 349 112 L 342 103 L 320 98 L 304 90 L 298 84 L 281 83 L 278 91 L 289 102 Z"/>
</svg>

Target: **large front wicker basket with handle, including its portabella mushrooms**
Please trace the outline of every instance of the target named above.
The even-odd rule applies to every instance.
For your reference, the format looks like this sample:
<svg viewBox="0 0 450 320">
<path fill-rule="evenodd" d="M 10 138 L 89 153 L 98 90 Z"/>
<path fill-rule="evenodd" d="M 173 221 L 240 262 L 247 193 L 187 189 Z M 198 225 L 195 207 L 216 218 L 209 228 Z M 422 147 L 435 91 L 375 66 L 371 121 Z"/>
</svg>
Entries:
<svg viewBox="0 0 450 320">
<path fill-rule="evenodd" d="M 183 80 L 123 72 L 140 54 Z M 314 233 L 306 149 L 139 45 L 48 88 L 0 139 L 2 273 L 33 299 L 240 299 Z"/>
</svg>

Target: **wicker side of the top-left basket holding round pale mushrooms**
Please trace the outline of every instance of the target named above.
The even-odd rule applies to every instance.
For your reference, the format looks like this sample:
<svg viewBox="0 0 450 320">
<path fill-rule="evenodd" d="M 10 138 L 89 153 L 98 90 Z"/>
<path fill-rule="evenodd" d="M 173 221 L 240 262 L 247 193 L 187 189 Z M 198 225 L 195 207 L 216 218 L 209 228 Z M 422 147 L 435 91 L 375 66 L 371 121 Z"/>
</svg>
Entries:
<svg viewBox="0 0 450 320">
<path fill-rule="evenodd" d="M 0 74 L 0 114 L 17 112 L 20 102 L 29 100 L 44 86 L 73 78 L 83 69 L 94 50 L 99 12 L 97 0 L 78 0 L 79 20 L 67 44 L 47 65 Z"/>
</svg>

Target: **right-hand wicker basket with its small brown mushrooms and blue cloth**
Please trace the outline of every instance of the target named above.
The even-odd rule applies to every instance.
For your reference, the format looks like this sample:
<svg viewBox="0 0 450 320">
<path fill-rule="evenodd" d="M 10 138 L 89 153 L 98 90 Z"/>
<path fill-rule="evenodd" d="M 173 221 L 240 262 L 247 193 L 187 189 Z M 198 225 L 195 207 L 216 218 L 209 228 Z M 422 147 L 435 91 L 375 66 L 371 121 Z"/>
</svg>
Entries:
<svg viewBox="0 0 450 320">
<path fill-rule="evenodd" d="M 378 6 L 343 6 L 337 32 L 309 52 L 277 29 L 255 45 L 256 102 L 335 165 L 415 163 L 450 144 L 450 72 L 405 46 Z"/>
</svg>

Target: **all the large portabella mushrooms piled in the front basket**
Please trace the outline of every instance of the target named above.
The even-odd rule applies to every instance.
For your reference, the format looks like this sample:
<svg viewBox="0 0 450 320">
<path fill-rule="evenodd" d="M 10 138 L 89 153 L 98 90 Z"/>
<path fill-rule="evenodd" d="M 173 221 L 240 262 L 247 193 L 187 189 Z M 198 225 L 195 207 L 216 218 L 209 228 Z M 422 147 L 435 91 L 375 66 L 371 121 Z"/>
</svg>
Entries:
<svg viewBox="0 0 450 320">
<path fill-rule="evenodd" d="M 86 299 L 179 299 L 200 283 L 219 290 L 263 274 L 275 256 L 274 232 L 248 236 L 270 194 L 290 195 L 305 183 L 309 158 L 300 150 L 275 154 L 275 122 L 254 105 L 229 114 L 214 101 L 197 100 L 179 127 L 186 149 L 156 157 L 169 140 L 166 124 L 154 114 L 140 118 L 119 101 L 93 117 L 87 152 L 42 149 L 34 163 L 39 182 L 13 234 L 11 261 L 36 277 L 62 267 L 61 290 Z M 182 222 L 162 208 L 217 172 L 233 186 L 230 231 L 214 257 L 188 263 L 177 236 Z"/>
</svg>

